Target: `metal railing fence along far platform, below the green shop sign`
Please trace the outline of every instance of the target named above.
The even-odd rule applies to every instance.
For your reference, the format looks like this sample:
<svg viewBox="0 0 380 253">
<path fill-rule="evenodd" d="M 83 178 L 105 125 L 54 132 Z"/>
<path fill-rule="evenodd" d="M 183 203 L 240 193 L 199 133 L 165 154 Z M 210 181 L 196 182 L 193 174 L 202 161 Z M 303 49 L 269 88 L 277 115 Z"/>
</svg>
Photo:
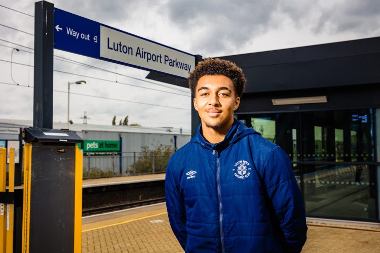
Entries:
<svg viewBox="0 0 380 253">
<path fill-rule="evenodd" d="M 83 179 L 164 173 L 170 156 L 128 155 L 83 156 Z"/>
</svg>

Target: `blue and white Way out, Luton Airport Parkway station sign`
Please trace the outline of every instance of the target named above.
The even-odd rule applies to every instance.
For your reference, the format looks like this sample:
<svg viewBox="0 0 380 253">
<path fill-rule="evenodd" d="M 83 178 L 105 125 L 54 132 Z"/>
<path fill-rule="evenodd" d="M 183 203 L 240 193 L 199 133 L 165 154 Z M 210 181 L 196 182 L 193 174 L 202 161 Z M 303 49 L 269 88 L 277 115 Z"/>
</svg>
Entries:
<svg viewBox="0 0 380 253">
<path fill-rule="evenodd" d="M 195 56 L 54 8 L 54 48 L 187 78 Z"/>
</svg>

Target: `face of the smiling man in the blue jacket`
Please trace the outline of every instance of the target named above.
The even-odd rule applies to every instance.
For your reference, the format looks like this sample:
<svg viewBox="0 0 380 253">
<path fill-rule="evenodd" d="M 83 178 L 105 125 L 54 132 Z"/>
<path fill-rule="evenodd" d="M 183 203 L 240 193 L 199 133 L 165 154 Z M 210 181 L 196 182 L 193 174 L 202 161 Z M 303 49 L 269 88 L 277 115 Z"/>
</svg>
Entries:
<svg viewBox="0 0 380 253">
<path fill-rule="evenodd" d="M 234 84 L 224 75 L 204 75 L 197 83 L 194 108 L 198 111 L 203 128 L 228 130 L 234 122 L 234 111 L 240 98 Z"/>
</svg>

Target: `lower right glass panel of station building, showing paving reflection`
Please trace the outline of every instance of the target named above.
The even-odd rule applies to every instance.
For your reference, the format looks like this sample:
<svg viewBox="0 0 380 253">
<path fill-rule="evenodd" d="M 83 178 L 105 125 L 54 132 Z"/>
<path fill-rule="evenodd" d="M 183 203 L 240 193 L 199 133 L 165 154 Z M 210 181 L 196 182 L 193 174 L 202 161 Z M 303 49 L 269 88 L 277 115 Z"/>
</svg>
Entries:
<svg viewBox="0 0 380 253">
<path fill-rule="evenodd" d="M 376 219 L 375 166 L 303 165 L 308 215 Z"/>
</svg>

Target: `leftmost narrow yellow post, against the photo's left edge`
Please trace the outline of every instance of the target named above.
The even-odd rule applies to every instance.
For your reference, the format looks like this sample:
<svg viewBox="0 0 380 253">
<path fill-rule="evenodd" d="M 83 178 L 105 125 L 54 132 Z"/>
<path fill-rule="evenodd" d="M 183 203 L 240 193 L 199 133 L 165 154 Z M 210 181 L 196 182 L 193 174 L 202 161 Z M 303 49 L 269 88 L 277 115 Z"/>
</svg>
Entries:
<svg viewBox="0 0 380 253">
<path fill-rule="evenodd" d="M 7 149 L 0 148 L 0 191 L 5 192 L 7 175 Z M 0 252 L 5 253 L 6 246 L 6 204 L 0 203 Z"/>
</svg>

